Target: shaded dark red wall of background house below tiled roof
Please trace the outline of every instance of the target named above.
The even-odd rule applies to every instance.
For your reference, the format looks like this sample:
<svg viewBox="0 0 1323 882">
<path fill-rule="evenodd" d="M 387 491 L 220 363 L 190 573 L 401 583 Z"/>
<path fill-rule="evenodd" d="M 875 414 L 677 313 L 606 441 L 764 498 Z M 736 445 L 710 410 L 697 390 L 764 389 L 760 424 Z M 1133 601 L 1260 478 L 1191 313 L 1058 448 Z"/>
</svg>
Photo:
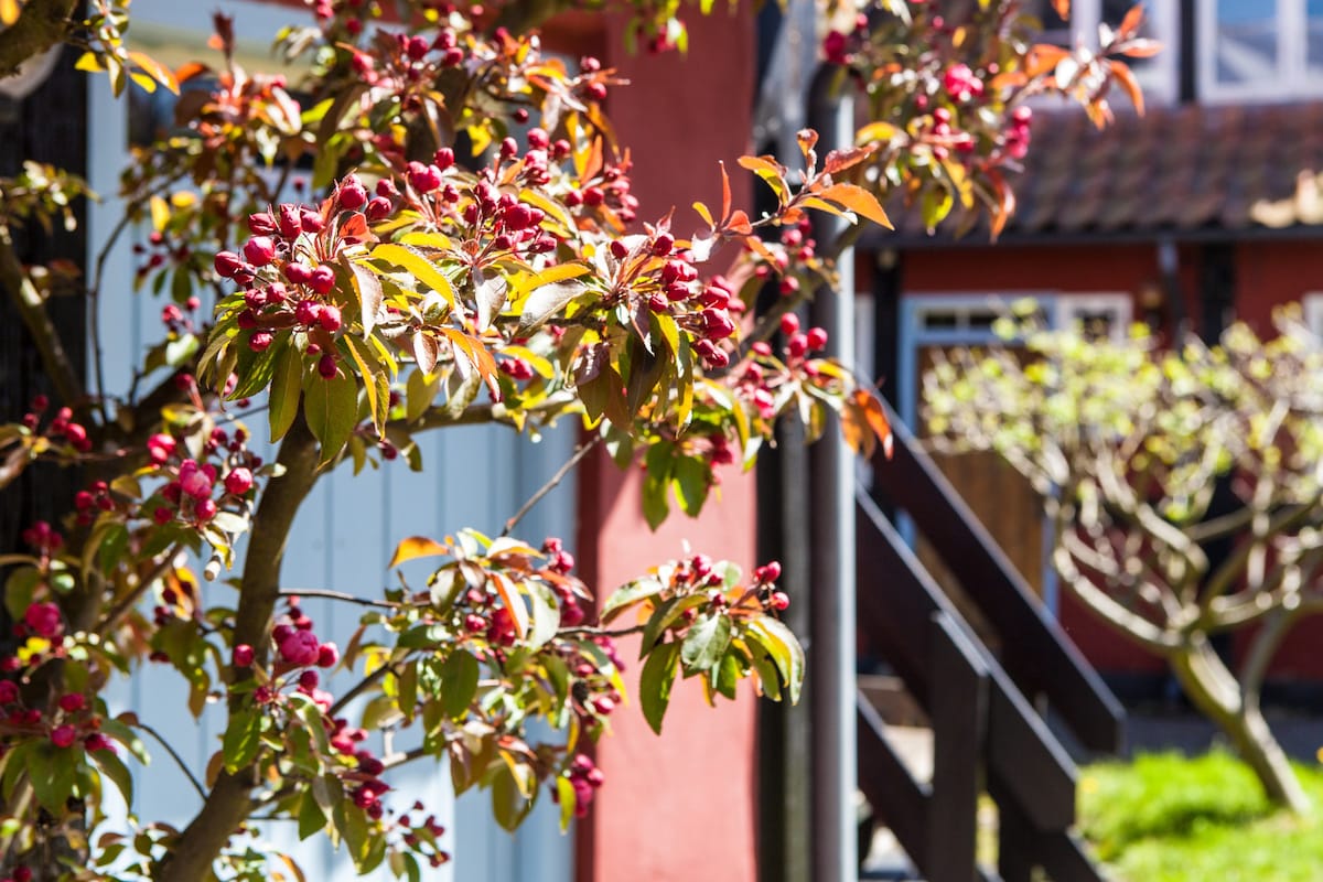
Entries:
<svg viewBox="0 0 1323 882">
<path fill-rule="evenodd" d="M 1199 274 L 1192 246 L 1177 249 L 1184 313 L 1199 327 Z M 1236 317 L 1259 335 L 1271 332 L 1274 307 L 1323 291 L 1323 253 L 1316 242 L 1249 242 L 1236 247 Z M 1160 290 L 1154 245 L 1007 246 L 998 249 L 931 249 L 906 251 L 902 284 L 906 294 L 971 294 L 1021 291 L 1130 292 L 1135 316 L 1142 292 Z M 1170 311 L 1166 319 L 1170 320 Z M 1062 596 L 1061 623 L 1070 639 L 1103 672 L 1154 673 L 1163 662 L 1103 625 L 1078 600 Z M 1244 657 L 1250 633 L 1237 635 L 1236 655 Z M 1295 627 L 1282 644 L 1271 676 L 1282 680 L 1323 678 L 1318 645 L 1323 616 Z"/>
</svg>

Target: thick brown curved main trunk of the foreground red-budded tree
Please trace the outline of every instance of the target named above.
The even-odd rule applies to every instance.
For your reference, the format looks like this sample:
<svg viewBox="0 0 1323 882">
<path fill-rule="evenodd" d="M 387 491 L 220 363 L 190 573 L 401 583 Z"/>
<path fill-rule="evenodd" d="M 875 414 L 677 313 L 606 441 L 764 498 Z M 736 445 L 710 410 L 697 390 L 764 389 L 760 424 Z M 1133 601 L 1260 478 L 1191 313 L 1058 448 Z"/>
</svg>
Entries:
<svg viewBox="0 0 1323 882">
<path fill-rule="evenodd" d="M 234 643 L 246 643 L 267 656 L 271 616 L 280 596 L 280 562 L 299 505 L 318 479 L 318 443 L 300 417 L 280 443 L 277 461 L 284 473 L 273 477 L 253 517 L 251 541 L 243 562 L 239 606 L 234 618 Z M 239 672 L 235 672 L 239 676 Z M 202 804 L 202 811 L 180 834 L 163 862 L 159 882 L 196 882 L 206 878 L 216 856 L 251 811 L 249 793 L 257 784 L 254 767 L 237 774 L 221 772 Z"/>
</svg>

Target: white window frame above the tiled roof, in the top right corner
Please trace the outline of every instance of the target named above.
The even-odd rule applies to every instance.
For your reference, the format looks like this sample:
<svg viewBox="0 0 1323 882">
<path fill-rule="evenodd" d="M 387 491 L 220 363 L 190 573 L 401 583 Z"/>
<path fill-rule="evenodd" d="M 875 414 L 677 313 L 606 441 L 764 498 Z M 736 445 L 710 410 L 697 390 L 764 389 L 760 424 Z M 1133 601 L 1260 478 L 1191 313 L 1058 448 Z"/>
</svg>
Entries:
<svg viewBox="0 0 1323 882">
<path fill-rule="evenodd" d="M 1217 0 L 1199 0 L 1196 13 L 1200 100 L 1281 103 L 1323 95 L 1323 74 L 1308 75 L 1307 0 L 1277 0 L 1277 70 L 1262 82 L 1217 82 Z"/>
</svg>

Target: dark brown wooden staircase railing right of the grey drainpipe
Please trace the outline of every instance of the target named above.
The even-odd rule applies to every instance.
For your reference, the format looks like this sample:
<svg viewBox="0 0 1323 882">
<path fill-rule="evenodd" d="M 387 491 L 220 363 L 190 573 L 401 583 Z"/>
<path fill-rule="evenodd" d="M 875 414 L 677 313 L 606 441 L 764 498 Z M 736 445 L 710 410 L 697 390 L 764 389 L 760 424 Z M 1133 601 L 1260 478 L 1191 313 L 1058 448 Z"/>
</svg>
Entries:
<svg viewBox="0 0 1323 882">
<path fill-rule="evenodd" d="M 1076 766 L 1048 707 L 1081 747 L 1117 752 L 1123 711 L 937 465 L 889 414 L 894 456 L 857 495 L 859 627 L 933 730 L 931 780 L 910 772 L 859 696 L 859 787 L 929 882 L 1103 877 L 1072 832 Z M 1002 647 L 987 649 L 884 514 L 904 510 Z M 980 795 L 998 809 L 998 865 L 975 861 Z"/>
</svg>

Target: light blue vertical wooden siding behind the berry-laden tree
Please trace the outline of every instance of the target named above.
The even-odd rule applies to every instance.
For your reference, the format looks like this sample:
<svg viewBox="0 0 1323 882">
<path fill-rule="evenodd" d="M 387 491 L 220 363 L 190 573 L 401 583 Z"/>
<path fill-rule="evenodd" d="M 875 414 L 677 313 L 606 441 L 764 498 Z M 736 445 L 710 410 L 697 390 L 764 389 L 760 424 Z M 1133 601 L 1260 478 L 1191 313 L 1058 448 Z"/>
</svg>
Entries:
<svg viewBox="0 0 1323 882">
<path fill-rule="evenodd" d="M 299 9 L 265 9 L 250 3 L 192 4 L 168 0 L 136 0 L 135 20 L 153 20 L 171 26 L 192 26 L 205 34 L 216 7 L 235 12 L 241 37 L 274 33 L 273 21 L 304 15 Z M 205 37 L 198 37 L 201 41 Z M 105 194 L 90 218 L 91 241 L 103 242 L 120 205 L 114 198 L 118 175 L 126 161 L 124 104 L 115 102 L 105 78 L 93 78 L 94 98 L 89 122 L 94 189 Z M 161 301 L 130 292 L 132 259 L 128 243 L 107 263 L 107 284 L 102 308 L 102 341 L 106 350 L 107 389 L 123 391 L 132 378 L 144 346 L 159 339 Z M 209 308 L 209 304 L 206 305 Z M 266 432 L 263 414 L 249 421 L 261 438 Z M 402 460 L 381 471 L 365 469 L 359 477 L 348 465 L 323 479 L 300 510 L 290 537 L 284 582 L 290 587 L 325 587 L 363 596 L 380 596 L 394 577 L 388 573 L 394 543 L 411 534 L 445 536 L 460 526 L 488 533 L 540 487 L 569 458 L 573 426 L 529 444 L 505 428 L 471 427 L 435 431 L 421 439 L 426 471 L 410 472 Z M 274 456 L 270 448 L 263 454 Z M 534 542 L 548 534 L 574 533 L 574 481 L 566 480 L 525 518 L 520 536 Z M 233 603 L 233 588 L 222 583 L 204 586 L 216 603 Z M 323 639 L 352 633 L 360 610 L 324 600 L 307 600 L 304 608 L 316 621 Z M 337 682 L 344 682 L 343 680 Z M 333 689 L 332 689 L 333 690 Z M 112 692 L 116 709 L 135 710 L 143 722 L 165 734 L 198 776 L 220 746 L 224 715 L 220 707 L 204 713 L 194 723 L 184 710 L 187 690 L 169 670 L 147 666 L 131 682 Z M 401 743 L 407 743 L 401 738 Z M 136 775 L 138 815 L 142 820 L 163 820 L 181 825 L 197 811 L 198 796 L 184 775 L 169 762 L 164 750 L 148 743 L 153 756 L 149 768 Z M 380 748 L 380 743 L 376 744 Z M 554 805 L 545 800 L 517 836 L 500 830 L 491 820 L 486 793 L 455 800 L 448 772 L 442 766 L 418 764 L 397 774 L 392 783 L 393 805 L 406 808 L 422 799 L 447 828 L 445 845 L 454 861 L 426 878 L 438 882 L 568 882 L 572 878 L 572 838 L 557 829 Z M 352 865 L 320 842 L 296 844 L 292 825 L 267 825 L 265 834 L 291 848 L 310 879 L 339 882 L 353 877 Z M 392 878 L 381 870 L 372 878 Z"/>
</svg>

